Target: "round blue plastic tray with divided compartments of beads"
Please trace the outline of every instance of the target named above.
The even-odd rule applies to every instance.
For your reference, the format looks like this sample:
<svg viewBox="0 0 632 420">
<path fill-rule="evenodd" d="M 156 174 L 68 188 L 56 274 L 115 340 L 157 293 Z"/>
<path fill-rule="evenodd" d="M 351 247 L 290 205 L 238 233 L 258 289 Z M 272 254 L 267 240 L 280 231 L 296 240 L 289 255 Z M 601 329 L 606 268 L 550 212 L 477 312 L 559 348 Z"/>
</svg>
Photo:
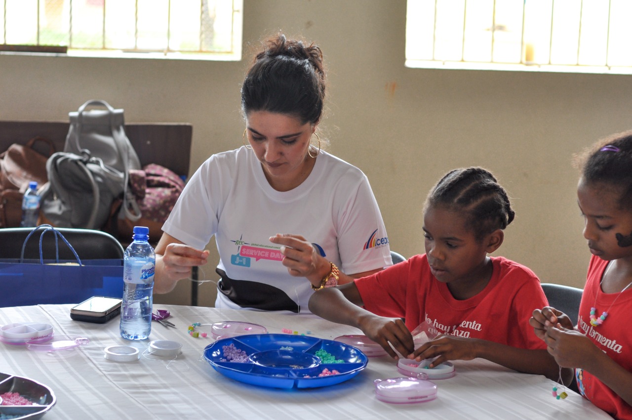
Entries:
<svg viewBox="0 0 632 420">
<path fill-rule="evenodd" d="M 234 345 L 248 355 L 247 362 L 226 361 L 224 346 Z M 324 363 L 319 350 L 341 363 Z M 367 356 L 351 345 L 289 334 L 251 334 L 223 338 L 207 345 L 204 357 L 216 371 L 237 381 L 270 388 L 317 388 L 335 385 L 367 367 Z M 324 369 L 339 373 L 319 376 Z"/>
</svg>

